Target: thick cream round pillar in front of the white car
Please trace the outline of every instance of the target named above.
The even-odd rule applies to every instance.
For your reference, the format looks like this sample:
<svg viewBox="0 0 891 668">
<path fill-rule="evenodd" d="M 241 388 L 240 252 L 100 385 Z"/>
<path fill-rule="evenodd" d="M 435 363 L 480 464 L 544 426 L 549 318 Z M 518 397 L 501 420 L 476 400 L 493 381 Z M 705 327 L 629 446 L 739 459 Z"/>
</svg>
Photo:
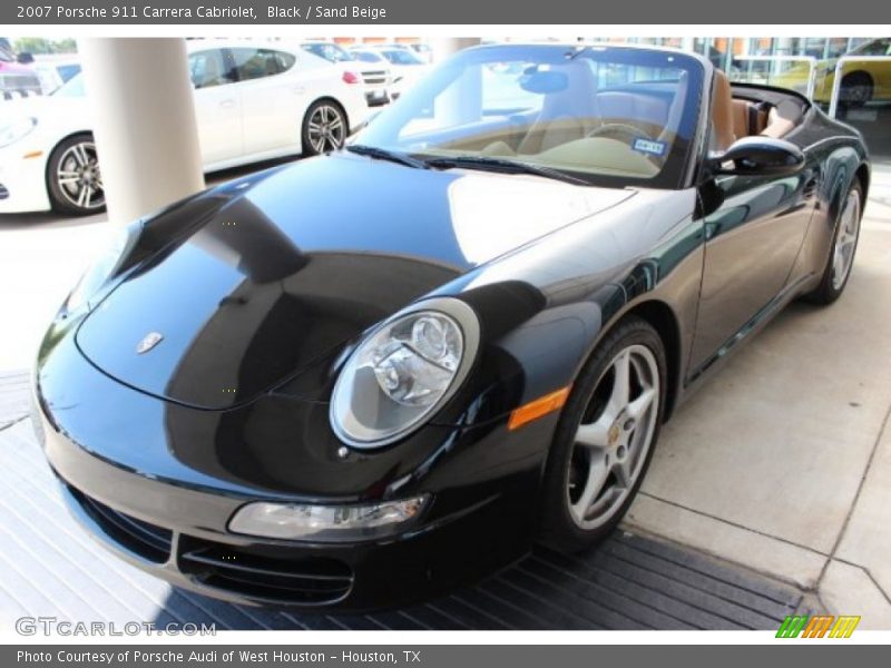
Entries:
<svg viewBox="0 0 891 668">
<path fill-rule="evenodd" d="M 204 188 L 184 39 L 78 40 L 108 215 L 124 223 Z"/>
</svg>

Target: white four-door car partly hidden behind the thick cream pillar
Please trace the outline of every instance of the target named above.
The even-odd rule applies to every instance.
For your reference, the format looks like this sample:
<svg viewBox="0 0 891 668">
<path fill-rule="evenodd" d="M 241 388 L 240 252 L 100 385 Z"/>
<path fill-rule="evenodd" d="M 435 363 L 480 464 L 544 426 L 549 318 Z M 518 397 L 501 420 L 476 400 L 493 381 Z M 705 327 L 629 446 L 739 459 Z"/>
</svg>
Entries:
<svg viewBox="0 0 891 668">
<path fill-rule="evenodd" d="M 300 46 L 187 43 L 205 171 L 332 150 L 368 118 L 362 86 Z M 3 102 L 0 214 L 101 210 L 91 128 L 82 75 L 51 96 Z"/>
</svg>

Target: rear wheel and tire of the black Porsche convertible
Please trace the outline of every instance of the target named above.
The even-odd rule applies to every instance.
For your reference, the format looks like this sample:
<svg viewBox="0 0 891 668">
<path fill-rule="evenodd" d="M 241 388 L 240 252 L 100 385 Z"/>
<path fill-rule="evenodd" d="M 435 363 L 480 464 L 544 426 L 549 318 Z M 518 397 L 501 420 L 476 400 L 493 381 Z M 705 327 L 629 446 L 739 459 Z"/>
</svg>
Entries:
<svg viewBox="0 0 891 668">
<path fill-rule="evenodd" d="M 863 187 L 859 180 L 854 179 L 839 207 L 839 214 L 835 216 L 832 246 L 826 258 L 826 265 L 823 267 L 820 285 L 806 295 L 810 302 L 828 305 L 841 296 L 844 286 L 848 285 L 851 268 L 854 264 L 862 217 Z"/>
</svg>

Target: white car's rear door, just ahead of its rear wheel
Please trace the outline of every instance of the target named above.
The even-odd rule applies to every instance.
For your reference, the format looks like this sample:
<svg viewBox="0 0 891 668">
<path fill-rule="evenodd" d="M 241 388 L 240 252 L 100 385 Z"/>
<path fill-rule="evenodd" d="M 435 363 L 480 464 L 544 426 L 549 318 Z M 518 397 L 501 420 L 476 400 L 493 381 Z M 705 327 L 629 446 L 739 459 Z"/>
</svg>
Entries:
<svg viewBox="0 0 891 668">
<path fill-rule="evenodd" d="M 245 155 L 296 151 L 303 114 L 314 99 L 310 98 L 312 87 L 302 71 L 302 59 L 278 49 L 229 50 L 242 100 Z"/>
</svg>

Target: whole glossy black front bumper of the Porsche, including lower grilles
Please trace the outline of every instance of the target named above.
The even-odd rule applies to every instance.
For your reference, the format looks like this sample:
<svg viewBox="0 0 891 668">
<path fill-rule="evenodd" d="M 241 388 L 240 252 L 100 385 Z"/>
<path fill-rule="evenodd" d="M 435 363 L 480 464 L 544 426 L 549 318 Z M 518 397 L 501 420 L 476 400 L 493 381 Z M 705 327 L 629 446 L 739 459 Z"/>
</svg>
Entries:
<svg viewBox="0 0 891 668">
<path fill-rule="evenodd" d="M 401 534 L 352 543 L 260 539 L 227 530 L 238 508 L 324 502 L 319 490 L 301 495 L 208 475 L 173 441 L 158 442 L 176 429 L 167 402 L 97 371 L 70 336 L 42 356 L 37 431 L 69 509 L 106 548 L 177 587 L 248 605 L 359 612 L 446 592 L 531 547 L 540 444 L 548 442 L 541 430 L 552 428 L 546 421 L 510 434 L 503 425 L 431 428 L 428 440 L 448 445 L 399 495 L 429 492 L 433 501 Z M 505 453 L 516 459 L 500 461 Z M 344 464 L 342 477 L 352 474 Z M 341 493 L 331 502 L 350 500 Z"/>
</svg>

